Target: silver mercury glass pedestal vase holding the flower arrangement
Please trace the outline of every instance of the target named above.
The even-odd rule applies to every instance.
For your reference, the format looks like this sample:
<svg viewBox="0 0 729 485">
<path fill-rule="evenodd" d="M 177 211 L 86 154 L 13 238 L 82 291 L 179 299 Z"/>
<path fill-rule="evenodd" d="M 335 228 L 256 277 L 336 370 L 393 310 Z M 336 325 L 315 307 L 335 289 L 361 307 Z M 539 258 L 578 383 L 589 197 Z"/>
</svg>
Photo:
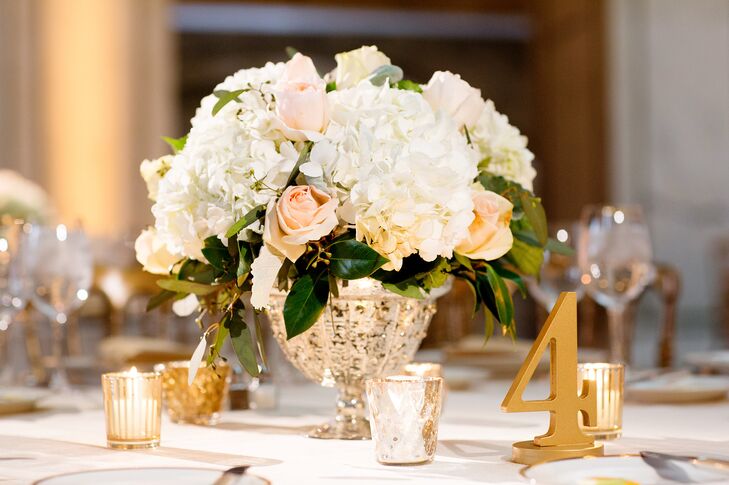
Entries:
<svg viewBox="0 0 729 485">
<path fill-rule="evenodd" d="M 437 293 L 449 288 L 450 282 Z M 370 439 L 364 381 L 410 363 L 435 314 L 435 293 L 417 300 L 368 278 L 349 281 L 340 284 L 338 297 L 330 295 L 314 326 L 291 340 L 283 318 L 287 294 L 272 295 L 268 315 L 286 358 L 307 378 L 339 391 L 336 417 L 312 429 L 310 438 Z"/>
</svg>

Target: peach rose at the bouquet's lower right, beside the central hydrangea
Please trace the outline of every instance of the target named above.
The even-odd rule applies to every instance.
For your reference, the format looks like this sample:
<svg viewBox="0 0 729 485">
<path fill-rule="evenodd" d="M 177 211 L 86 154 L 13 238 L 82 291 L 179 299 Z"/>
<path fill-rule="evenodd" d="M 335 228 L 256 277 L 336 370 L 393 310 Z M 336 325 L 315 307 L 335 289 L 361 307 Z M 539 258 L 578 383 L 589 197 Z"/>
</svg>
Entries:
<svg viewBox="0 0 729 485">
<path fill-rule="evenodd" d="M 468 227 L 468 237 L 458 243 L 456 252 L 471 259 L 498 259 L 508 253 L 514 243 L 509 229 L 514 206 L 499 194 L 483 188 L 474 189 L 472 197 L 475 218 Z"/>
</svg>

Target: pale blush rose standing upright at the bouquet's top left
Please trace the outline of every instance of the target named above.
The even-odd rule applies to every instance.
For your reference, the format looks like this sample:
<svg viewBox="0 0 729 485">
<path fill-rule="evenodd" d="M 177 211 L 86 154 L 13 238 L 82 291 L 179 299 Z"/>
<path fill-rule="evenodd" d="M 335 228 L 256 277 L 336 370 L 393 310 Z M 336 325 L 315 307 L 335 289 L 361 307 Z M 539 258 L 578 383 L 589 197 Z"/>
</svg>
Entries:
<svg viewBox="0 0 729 485">
<path fill-rule="evenodd" d="M 305 140 L 306 131 L 321 133 L 329 123 L 326 83 L 311 58 L 297 53 L 274 89 L 276 115 L 292 139 Z"/>
</svg>

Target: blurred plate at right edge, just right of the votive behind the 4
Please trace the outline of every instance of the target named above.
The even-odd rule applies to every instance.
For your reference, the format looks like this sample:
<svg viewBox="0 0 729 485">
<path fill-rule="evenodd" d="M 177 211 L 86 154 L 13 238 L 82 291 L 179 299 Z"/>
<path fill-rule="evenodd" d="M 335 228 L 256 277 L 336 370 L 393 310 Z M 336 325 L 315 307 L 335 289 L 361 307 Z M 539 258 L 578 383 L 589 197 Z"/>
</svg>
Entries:
<svg viewBox="0 0 729 485">
<path fill-rule="evenodd" d="M 689 403 L 716 401 L 729 393 L 729 379 L 721 376 L 684 375 L 658 377 L 626 387 L 626 397 L 647 403 Z"/>
</svg>

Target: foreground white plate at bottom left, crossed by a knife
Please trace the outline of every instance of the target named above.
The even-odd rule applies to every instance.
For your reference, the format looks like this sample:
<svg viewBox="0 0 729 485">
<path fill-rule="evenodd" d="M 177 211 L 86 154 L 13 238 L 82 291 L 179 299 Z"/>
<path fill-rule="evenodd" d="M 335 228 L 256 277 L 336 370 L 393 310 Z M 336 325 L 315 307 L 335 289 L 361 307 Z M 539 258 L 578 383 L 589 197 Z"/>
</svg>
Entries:
<svg viewBox="0 0 729 485">
<path fill-rule="evenodd" d="M 44 478 L 36 485 L 210 485 L 223 471 L 206 468 L 118 468 L 68 473 Z M 270 485 L 271 482 L 254 475 L 241 477 L 238 485 Z"/>
</svg>

